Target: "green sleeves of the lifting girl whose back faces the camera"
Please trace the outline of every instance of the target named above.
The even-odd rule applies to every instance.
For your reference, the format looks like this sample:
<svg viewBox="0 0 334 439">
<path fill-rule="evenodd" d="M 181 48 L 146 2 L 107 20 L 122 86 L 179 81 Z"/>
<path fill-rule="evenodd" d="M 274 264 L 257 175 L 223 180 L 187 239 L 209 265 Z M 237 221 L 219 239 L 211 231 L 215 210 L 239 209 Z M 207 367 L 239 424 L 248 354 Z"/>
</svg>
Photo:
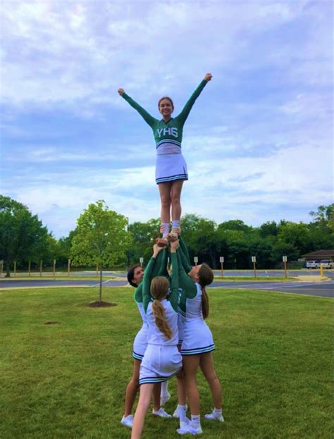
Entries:
<svg viewBox="0 0 334 439">
<path fill-rule="evenodd" d="M 142 302 L 144 311 L 147 311 L 147 307 L 149 302 L 151 301 L 151 271 L 154 266 L 155 258 L 152 256 L 149 260 L 149 264 L 147 264 L 147 268 L 144 271 L 144 278 L 142 280 L 143 288 L 142 288 Z M 175 252 L 171 253 L 171 266 L 172 266 L 172 276 L 170 288 L 171 292 L 166 297 L 169 302 L 171 302 L 171 306 L 173 307 L 175 312 L 178 312 L 178 256 Z"/>
</svg>

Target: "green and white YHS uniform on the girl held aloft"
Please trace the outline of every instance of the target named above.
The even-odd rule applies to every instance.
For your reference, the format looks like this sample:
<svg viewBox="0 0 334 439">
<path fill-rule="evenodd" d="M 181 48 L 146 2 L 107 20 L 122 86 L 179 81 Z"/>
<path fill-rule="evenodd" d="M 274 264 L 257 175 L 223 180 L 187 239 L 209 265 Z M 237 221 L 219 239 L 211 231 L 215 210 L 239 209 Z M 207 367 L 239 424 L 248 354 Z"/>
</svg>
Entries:
<svg viewBox="0 0 334 439">
<path fill-rule="evenodd" d="M 122 97 L 128 101 L 130 106 L 140 113 L 145 122 L 153 130 L 154 140 L 156 142 L 156 184 L 167 183 L 174 180 L 187 180 L 188 171 L 187 163 L 181 152 L 181 143 L 183 137 L 183 125 L 202 89 L 207 81 L 202 80 L 197 89 L 194 90 L 191 97 L 185 104 L 183 111 L 171 118 L 168 122 L 163 119 L 158 120 L 147 113 L 146 110 L 137 104 L 128 94 L 123 93 Z"/>
</svg>

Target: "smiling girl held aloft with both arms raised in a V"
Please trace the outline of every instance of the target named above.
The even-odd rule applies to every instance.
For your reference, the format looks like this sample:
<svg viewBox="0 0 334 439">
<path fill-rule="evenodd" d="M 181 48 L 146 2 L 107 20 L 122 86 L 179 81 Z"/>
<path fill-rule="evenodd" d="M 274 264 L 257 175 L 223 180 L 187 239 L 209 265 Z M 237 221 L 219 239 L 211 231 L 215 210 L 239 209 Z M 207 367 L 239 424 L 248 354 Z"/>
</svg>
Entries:
<svg viewBox="0 0 334 439">
<path fill-rule="evenodd" d="M 212 78 L 211 73 L 206 73 L 202 82 L 194 90 L 190 99 L 185 104 L 183 111 L 172 118 L 174 104 L 170 97 L 162 97 L 158 102 L 159 113 L 162 119 L 158 120 L 147 113 L 137 102 L 135 102 L 123 88 L 118 93 L 130 106 L 140 113 L 145 122 L 153 130 L 156 142 L 156 184 L 159 187 L 161 199 L 161 225 L 163 226 L 163 238 L 168 235 L 169 223 L 172 219 L 172 230 L 179 230 L 181 217 L 181 191 L 183 181 L 188 179 L 187 163 L 181 152 L 183 137 L 183 125 L 202 89 Z M 166 240 L 159 242 L 159 245 L 167 245 Z"/>
</svg>

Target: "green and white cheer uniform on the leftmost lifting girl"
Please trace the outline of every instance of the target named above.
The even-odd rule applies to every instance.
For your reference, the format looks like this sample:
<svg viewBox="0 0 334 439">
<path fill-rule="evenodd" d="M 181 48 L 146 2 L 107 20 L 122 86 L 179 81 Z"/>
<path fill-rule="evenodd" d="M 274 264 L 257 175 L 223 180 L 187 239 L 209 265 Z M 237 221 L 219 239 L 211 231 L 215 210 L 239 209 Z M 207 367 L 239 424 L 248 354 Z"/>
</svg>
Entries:
<svg viewBox="0 0 334 439">
<path fill-rule="evenodd" d="M 163 249 L 159 252 L 156 259 L 150 259 L 149 264 L 147 264 L 147 269 L 151 271 L 151 279 L 155 276 L 168 276 L 166 271 L 168 252 L 167 249 Z M 140 311 L 140 316 L 142 317 L 142 328 L 138 331 L 133 340 L 132 357 L 142 361 L 144 353 L 147 348 L 147 334 L 148 334 L 148 324 L 146 313 L 144 311 L 144 306 L 142 303 L 142 287 L 143 283 L 140 283 L 135 290 L 135 302 L 137 304 L 138 310 Z"/>
</svg>

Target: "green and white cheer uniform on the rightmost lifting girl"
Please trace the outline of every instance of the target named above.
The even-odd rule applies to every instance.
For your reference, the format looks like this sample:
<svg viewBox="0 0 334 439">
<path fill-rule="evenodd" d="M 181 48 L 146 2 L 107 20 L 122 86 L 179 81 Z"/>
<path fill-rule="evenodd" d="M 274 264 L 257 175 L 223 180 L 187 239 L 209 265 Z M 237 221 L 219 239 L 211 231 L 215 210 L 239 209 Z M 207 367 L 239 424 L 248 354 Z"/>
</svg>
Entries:
<svg viewBox="0 0 334 439">
<path fill-rule="evenodd" d="M 189 272 L 192 267 L 181 247 L 177 250 L 177 254 L 179 284 L 183 290 L 178 305 L 183 321 L 181 354 L 196 355 L 211 352 L 215 349 L 215 345 L 211 330 L 203 319 L 202 287 L 187 275 L 186 271 Z"/>
</svg>

